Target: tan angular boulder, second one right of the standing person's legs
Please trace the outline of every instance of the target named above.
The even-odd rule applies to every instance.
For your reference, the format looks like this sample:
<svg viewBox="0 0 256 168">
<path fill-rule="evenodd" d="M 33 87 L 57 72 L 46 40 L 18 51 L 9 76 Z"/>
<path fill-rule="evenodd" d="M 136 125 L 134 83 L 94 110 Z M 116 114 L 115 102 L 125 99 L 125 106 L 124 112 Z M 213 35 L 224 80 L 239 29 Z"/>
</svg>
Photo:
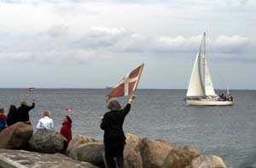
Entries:
<svg viewBox="0 0 256 168">
<path fill-rule="evenodd" d="M 148 137 L 143 138 L 140 149 L 143 158 L 143 167 L 161 167 L 172 148 L 170 144 L 154 141 Z"/>
</svg>

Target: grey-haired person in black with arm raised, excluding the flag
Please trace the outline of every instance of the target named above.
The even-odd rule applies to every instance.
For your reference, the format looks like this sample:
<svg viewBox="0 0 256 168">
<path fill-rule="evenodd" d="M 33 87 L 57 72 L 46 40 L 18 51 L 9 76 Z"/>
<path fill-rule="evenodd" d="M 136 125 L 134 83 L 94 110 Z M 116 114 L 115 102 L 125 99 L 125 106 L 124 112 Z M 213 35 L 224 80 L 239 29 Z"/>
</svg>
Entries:
<svg viewBox="0 0 256 168">
<path fill-rule="evenodd" d="M 123 124 L 134 98 L 135 95 L 131 95 L 124 109 L 122 109 L 118 100 L 110 100 L 108 109 L 111 111 L 107 112 L 102 118 L 101 128 L 104 130 L 105 157 L 109 168 L 115 167 L 116 164 L 119 168 L 124 167 L 125 133 Z M 115 163 L 114 158 L 117 163 Z"/>
</svg>

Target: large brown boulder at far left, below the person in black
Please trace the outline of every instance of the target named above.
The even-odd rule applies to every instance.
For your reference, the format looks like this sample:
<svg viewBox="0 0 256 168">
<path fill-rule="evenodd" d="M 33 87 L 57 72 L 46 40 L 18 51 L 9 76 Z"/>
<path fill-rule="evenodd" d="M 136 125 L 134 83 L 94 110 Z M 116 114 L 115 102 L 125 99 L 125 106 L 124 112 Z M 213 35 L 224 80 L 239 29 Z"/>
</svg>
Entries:
<svg viewBox="0 0 256 168">
<path fill-rule="evenodd" d="M 0 133 L 0 148 L 26 149 L 32 134 L 32 126 L 24 122 L 17 122 Z"/>
</svg>

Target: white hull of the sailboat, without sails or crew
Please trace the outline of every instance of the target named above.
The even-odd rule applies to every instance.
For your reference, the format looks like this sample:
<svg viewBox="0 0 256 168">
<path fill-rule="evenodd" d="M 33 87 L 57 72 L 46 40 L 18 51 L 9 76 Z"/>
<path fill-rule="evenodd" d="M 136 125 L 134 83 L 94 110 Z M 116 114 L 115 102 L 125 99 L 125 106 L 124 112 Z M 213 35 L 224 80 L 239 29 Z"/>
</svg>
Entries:
<svg viewBox="0 0 256 168">
<path fill-rule="evenodd" d="M 188 105 L 199 105 L 199 106 L 225 106 L 232 105 L 231 101 L 218 101 L 218 100 L 208 100 L 208 99 L 187 99 Z"/>
</svg>

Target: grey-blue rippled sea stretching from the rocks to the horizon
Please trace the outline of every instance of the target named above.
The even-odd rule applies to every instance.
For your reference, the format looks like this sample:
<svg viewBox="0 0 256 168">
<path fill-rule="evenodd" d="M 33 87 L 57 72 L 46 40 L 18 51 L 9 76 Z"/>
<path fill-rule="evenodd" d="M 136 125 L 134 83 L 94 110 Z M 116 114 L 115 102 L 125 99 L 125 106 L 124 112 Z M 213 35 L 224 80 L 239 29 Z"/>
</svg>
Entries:
<svg viewBox="0 0 256 168">
<path fill-rule="evenodd" d="M 20 101 L 36 107 L 30 111 L 32 126 L 45 110 L 52 113 L 55 130 L 60 131 L 65 115 L 73 120 L 73 136 L 85 135 L 102 140 L 100 120 L 108 109 L 110 89 L 0 89 L 0 108 L 7 114 L 10 104 Z M 218 94 L 225 92 L 217 91 Z M 175 146 L 192 145 L 204 154 L 220 156 L 228 167 L 256 167 L 256 91 L 231 90 L 232 106 L 188 106 L 186 90 L 138 89 L 124 131 L 138 137 L 166 139 Z M 129 97 L 119 98 L 125 105 Z M 68 113 L 65 109 L 71 108 Z M 35 129 L 36 130 L 36 129 Z"/>
</svg>

